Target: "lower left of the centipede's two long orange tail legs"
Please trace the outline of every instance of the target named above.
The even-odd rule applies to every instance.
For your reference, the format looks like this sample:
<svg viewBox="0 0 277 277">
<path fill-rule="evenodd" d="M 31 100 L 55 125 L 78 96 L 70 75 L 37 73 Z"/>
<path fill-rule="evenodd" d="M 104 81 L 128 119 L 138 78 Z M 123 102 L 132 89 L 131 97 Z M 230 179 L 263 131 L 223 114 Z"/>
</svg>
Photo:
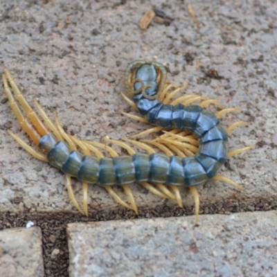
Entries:
<svg viewBox="0 0 277 277">
<path fill-rule="evenodd" d="M 17 104 L 17 102 L 15 102 L 15 98 L 12 96 L 12 92 L 8 87 L 8 82 L 4 74 L 3 74 L 3 85 L 4 85 L 6 96 L 8 97 L 8 100 L 10 102 L 10 107 L 13 113 L 15 114 L 15 116 L 17 117 L 20 127 L 24 129 L 24 131 L 28 134 L 28 136 L 30 136 L 30 139 L 35 143 L 35 145 L 38 145 L 41 135 L 37 132 L 37 130 L 33 127 L 33 125 L 30 124 L 28 119 L 25 118 L 24 115 L 21 113 L 21 110 L 19 109 L 19 105 Z"/>
</svg>

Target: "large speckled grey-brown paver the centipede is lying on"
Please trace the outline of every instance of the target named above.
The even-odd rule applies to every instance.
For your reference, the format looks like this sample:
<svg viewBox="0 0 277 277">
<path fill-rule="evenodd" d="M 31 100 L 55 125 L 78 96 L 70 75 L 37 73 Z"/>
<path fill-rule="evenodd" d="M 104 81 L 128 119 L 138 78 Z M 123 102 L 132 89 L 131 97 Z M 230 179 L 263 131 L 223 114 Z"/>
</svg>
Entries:
<svg viewBox="0 0 277 277">
<path fill-rule="evenodd" d="M 141 30 L 138 22 L 151 8 L 148 1 L 1 1 L 0 71 L 8 67 L 28 101 L 39 100 L 52 119 L 57 114 L 69 134 L 100 141 L 149 127 L 120 114 L 134 111 L 119 92 L 129 62 L 157 60 L 166 65 L 170 82 L 188 82 L 186 93 L 242 109 L 222 120 L 225 126 L 249 123 L 231 134 L 231 150 L 258 143 L 221 171 L 246 190 L 209 181 L 199 188 L 202 204 L 271 206 L 277 191 L 277 2 L 196 0 L 199 28 L 187 3 L 159 0 L 155 5 L 174 21 L 169 26 L 152 22 Z M 211 69 L 219 77 L 213 78 Z M 62 173 L 30 157 L 6 132 L 29 141 L 0 91 L 0 211 L 76 212 Z M 73 188 L 81 202 L 80 184 Z M 137 185 L 132 188 L 139 211 L 176 205 Z M 193 197 L 185 190 L 181 194 L 184 206 L 192 206 Z M 118 210 L 102 188 L 93 186 L 89 198 L 90 213 Z"/>
</svg>

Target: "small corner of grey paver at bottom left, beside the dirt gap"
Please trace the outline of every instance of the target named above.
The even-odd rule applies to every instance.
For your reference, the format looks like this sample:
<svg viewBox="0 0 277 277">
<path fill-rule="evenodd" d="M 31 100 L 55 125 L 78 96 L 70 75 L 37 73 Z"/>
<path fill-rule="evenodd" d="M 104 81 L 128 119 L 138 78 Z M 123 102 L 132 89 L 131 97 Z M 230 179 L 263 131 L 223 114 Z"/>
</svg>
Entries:
<svg viewBox="0 0 277 277">
<path fill-rule="evenodd" d="M 0 276 L 44 276 L 39 227 L 0 231 Z"/>
</svg>

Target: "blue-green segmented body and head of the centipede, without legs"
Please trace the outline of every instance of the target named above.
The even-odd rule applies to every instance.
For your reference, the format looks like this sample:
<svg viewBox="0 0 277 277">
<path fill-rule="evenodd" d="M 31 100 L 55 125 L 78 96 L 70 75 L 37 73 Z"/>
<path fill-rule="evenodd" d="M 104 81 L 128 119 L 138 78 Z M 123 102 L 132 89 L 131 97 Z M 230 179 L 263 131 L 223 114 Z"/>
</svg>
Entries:
<svg viewBox="0 0 277 277">
<path fill-rule="evenodd" d="M 190 130 L 199 138 L 199 153 L 181 159 L 165 154 L 133 154 L 115 158 L 86 156 L 71 151 L 67 143 L 51 134 L 39 139 L 39 148 L 52 166 L 80 181 L 100 186 L 123 186 L 154 182 L 175 186 L 197 186 L 215 177 L 228 152 L 228 136 L 219 119 L 197 105 L 164 105 L 157 100 L 166 81 L 166 69 L 159 63 L 135 61 L 126 74 L 127 90 L 152 125 Z"/>
</svg>

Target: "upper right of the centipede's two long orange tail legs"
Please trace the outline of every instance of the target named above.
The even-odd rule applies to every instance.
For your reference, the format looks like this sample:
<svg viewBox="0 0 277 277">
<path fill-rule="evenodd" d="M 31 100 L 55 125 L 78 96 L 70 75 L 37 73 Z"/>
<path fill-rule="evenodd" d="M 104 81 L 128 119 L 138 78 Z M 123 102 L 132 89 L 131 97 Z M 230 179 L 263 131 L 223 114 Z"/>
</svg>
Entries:
<svg viewBox="0 0 277 277">
<path fill-rule="evenodd" d="M 12 75 L 10 74 L 10 71 L 8 69 L 5 69 L 5 72 L 6 72 L 6 75 L 8 78 L 8 82 L 10 83 L 10 86 L 12 87 L 12 91 L 13 91 L 13 93 L 15 93 L 15 97 L 17 98 L 19 104 L 26 112 L 27 118 L 30 119 L 30 122 L 35 126 L 35 129 L 37 130 L 37 132 L 39 132 L 39 134 L 41 136 L 49 134 L 48 129 L 44 126 L 44 124 L 42 123 L 42 120 L 39 119 L 39 117 L 37 116 L 35 111 L 30 107 L 27 100 L 24 98 L 23 94 L 17 87 L 17 84 L 15 83 L 15 80 L 13 80 Z M 4 87 L 6 89 L 8 87 L 8 84 L 7 84 L 7 82 L 5 84 L 4 78 L 3 78 L 3 82 L 4 82 Z"/>
</svg>

